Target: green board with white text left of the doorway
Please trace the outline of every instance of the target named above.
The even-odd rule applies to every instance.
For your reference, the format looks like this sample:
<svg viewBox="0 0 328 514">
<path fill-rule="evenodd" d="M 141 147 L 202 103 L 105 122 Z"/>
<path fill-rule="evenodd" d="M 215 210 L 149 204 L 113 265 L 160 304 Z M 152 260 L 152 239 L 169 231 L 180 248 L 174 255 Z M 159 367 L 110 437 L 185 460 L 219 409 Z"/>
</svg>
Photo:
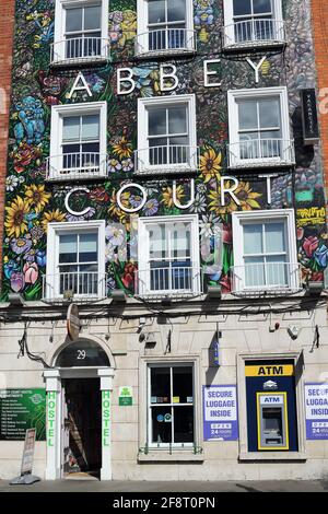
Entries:
<svg viewBox="0 0 328 514">
<path fill-rule="evenodd" d="M 46 440 L 46 390 L 0 389 L 0 441 L 24 441 L 28 429 Z"/>
</svg>

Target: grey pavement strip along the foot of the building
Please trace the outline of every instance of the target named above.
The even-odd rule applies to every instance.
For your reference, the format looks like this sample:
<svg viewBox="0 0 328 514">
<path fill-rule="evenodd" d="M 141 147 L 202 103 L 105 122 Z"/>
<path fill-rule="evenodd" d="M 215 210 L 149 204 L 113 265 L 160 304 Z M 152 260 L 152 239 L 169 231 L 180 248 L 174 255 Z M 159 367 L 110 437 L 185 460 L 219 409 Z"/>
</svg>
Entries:
<svg viewBox="0 0 328 514">
<path fill-rule="evenodd" d="M 270 481 L 98 481 L 95 479 L 67 479 L 45 481 L 31 486 L 10 486 L 0 480 L 2 492 L 328 492 L 328 480 L 270 480 Z"/>
</svg>

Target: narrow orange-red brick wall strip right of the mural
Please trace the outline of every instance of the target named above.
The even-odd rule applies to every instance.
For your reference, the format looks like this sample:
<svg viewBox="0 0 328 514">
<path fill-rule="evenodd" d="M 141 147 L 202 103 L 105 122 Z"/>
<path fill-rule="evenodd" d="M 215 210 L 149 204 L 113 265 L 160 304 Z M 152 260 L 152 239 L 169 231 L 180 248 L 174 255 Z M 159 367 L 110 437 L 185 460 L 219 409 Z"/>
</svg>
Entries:
<svg viewBox="0 0 328 514">
<path fill-rule="evenodd" d="M 321 91 L 320 135 L 324 159 L 324 179 L 326 198 L 328 198 L 328 2 L 312 0 L 312 17 L 314 26 L 315 55 L 319 90 Z M 325 113 L 326 112 L 326 113 Z M 326 208 L 327 220 L 328 209 Z"/>
</svg>

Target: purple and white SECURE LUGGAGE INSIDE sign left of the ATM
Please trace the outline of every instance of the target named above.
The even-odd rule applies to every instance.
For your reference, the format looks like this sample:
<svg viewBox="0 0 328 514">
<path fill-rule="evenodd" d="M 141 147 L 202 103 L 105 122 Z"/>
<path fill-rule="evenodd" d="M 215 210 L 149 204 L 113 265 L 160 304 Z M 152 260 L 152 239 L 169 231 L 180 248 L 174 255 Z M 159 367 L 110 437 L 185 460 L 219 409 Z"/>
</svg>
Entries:
<svg viewBox="0 0 328 514">
<path fill-rule="evenodd" d="M 238 439 L 236 385 L 203 386 L 203 439 Z"/>
</svg>

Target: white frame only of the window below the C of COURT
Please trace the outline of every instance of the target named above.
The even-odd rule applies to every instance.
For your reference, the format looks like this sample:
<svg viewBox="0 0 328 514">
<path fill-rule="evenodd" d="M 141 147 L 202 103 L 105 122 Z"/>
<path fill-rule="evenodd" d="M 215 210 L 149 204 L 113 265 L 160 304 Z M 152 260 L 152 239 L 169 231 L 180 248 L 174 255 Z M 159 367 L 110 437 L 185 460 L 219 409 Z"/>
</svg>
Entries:
<svg viewBox="0 0 328 514">
<path fill-rule="evenodd" d="M 104 276 L 106 271 L 105 261 L 105 220 L 99 221 L 77 221 L 77 222 L 50 222 L 48 223 L 47 231 L 47 267 L 46 267 L 46 280 L 47 284 L 54 291 L 52 300 L 63 300 L 63 295 L 59 293 L 59 282 L 57 276 L 59 276 L 59 236 L 61 234 L 72 234 L 77 232 L 97 232 L 97 248 L 98 248 L 98 277 Z M 48 277 L 50 279 L 48 280 Z M 87 297 L 94 299 L 97 295 L 74 295 L 74 300 Z"/>
</svg>

